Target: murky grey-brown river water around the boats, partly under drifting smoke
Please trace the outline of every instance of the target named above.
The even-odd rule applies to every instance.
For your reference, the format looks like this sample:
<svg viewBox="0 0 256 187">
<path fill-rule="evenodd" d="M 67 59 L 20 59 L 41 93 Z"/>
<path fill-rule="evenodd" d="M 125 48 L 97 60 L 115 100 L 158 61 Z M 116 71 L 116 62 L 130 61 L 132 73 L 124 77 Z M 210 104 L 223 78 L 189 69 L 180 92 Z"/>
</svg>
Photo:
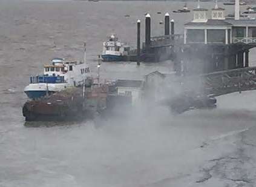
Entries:
<svg viewBox="0 0 256 187">
<path fill-rule="evenodd" d="M 166 11 L 176 33 L 182 33 L 192 18 L 192 13 L 172 13 L 182 6 L 172 1 L 0 1 L 0 186 L 255 186 L 255 91 L 221 96 L 214 110 L 179 116 L 147 108 L 103 126 L 91 121 L 25 126 L 24 87 L 50 59 L 82 60 L 86 41 L 95 72 L 97 54 L 111 33 L 136 46 L 136 21 L 142 20 L 144 30 L 146 12 L 153 36 L 163 34 L 159 22 Z M 254 59 L 252 50 L 250 65 Z M 171 73 L 172 63 L 105 63 L 100 72 L 104 78 L 142 79 L 156 70 Z"/>
</svg>

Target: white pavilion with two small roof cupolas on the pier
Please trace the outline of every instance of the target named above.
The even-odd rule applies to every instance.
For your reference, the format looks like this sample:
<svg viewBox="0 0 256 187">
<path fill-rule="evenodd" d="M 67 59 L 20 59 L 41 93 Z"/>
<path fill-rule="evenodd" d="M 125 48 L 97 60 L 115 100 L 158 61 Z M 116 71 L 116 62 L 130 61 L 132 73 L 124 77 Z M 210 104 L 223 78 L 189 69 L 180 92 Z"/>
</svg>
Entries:
<svg viewBox="0 0 256 187">
<path fill-rule="evenodd" d="M 185 24 L 184 44 L 256 44 L 255 19 L 225 19 L 217 2 L 211 18 L 208 14 L 200 5 L 194 9 L 194 19 Z"/>
</svg>

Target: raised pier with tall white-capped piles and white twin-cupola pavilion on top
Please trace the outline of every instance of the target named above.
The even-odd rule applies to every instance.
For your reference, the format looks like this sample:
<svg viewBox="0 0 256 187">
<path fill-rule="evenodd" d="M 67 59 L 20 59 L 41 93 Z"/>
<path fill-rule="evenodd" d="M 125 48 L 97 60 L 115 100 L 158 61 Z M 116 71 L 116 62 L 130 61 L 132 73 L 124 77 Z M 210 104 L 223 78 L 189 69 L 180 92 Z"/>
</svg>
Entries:
<svg viewBox="0 0 256 187">
<path fill-rule="evenodd" d="M 239 5 L 235 7 L 239 11 Z M 256 21 L 239 16 L 226 19 L 225 9 L 218 7 L 217 2 L 211 11 L 200 4 L 193 11 L 191 22 L 184 24 L 183 34 L 174 33 L 174 20 L 170 21 L 166 13 L 163 36 L 151 36 L 151 16 L 147 14 L 145 42 L 137 50 L 137 59 L 141 62 L 171 59 L 174 70 L 183 75 L 249 67 L 249 51 L 256 47 Z M 140 24 L 137 31 L 139 48 Z"/>
</svg>

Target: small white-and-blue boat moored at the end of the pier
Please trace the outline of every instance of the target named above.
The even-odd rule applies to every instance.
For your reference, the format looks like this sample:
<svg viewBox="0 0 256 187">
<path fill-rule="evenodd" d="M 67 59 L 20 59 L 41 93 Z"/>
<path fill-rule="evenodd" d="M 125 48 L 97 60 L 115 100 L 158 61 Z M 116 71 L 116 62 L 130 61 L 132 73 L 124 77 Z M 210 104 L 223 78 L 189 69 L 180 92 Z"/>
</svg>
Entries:
<svg viewBox="0 0 256 187">
<path fill-rule="evenodd" d="M 112 34 L 107 42 L 103 42 L 101 57 L 105 62 L 123 61 L 130 52 L 130 46 L 123 44 Z"/>
</svg>

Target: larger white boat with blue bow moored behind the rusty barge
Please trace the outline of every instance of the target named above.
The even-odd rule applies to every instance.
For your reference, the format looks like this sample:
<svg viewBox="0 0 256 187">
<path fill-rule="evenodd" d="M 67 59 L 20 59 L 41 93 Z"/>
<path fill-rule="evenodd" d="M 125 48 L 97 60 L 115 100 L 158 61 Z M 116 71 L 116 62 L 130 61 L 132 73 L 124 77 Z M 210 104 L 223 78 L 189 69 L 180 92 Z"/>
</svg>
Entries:
<svg viewBox="0 0 256 187">
<path fill-rule="evenodd" d="M 30 84 L 24 89 L 25 94 L 30 99 L 38 99 L 69 87 L 82 85 L 86 77 L 90 76 L 85 56 L 86 50 L 84 62 L 68 62 L 61 58 L 51 60 L 51 65 L 44 66 L 44 74 L 30 77 Z"/>
</svg>

